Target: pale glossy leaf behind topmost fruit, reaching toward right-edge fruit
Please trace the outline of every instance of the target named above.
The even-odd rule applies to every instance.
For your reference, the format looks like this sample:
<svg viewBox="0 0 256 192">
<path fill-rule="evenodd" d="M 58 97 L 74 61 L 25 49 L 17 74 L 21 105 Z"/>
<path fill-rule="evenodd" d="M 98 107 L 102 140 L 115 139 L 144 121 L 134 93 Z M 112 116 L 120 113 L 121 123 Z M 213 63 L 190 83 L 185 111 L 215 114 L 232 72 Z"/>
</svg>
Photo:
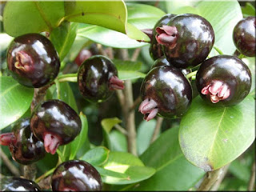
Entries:
<svg viewBox="0 0 256 192">
<path fill-rule="evenodd" d="M 224 54 L 234 54 L 232 39 L 234 26 L 242 19 L 242 10 L 236 0 L 230 1 L 184 1 L 167 2 L 167 10 L 172 14 L 199 14 L 214 28 L 215 46 Z M 214 50 L 212 53 L 214 55 Z"/>
</svg>

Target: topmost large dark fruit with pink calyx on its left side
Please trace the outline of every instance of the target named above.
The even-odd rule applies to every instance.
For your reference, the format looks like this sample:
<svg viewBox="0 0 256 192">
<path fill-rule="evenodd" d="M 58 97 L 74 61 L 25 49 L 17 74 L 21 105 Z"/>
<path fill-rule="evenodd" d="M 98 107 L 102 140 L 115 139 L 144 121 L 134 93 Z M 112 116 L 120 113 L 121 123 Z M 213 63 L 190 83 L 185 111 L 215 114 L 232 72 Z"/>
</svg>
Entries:
<svg viewBox="0 0 256 192">
<path fill-rule="evenodd" d="M 156 31 L 166 59 L 177 68 L 198 66 L 214 45 L 213 27 L 197 14 L 179 14 Z"/>
</svg>

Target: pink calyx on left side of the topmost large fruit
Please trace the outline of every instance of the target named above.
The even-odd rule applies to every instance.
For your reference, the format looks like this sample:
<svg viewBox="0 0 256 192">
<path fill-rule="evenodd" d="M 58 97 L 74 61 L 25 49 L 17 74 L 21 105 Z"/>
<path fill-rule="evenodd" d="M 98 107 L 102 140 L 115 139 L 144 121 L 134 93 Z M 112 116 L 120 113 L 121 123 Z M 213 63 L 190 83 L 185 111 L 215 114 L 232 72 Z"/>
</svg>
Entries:
<svg viewBox="0 0 256 192">
<path fill-rule="evenodd" d="M 168 46 L 170 49 L 174 49 L 177 42 L 178 30 L 175 26 L 162 26 L 157 27 L 157 34 L 155 35 L 156 40 L 163 46 Z"/>
</svg>

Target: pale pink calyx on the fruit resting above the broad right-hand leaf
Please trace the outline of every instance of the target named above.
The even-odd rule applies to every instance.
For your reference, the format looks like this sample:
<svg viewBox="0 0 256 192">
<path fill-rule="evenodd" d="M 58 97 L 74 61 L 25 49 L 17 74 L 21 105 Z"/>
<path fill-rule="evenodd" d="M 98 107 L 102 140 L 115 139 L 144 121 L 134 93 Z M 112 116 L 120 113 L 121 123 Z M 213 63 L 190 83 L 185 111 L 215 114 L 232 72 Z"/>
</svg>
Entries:
<svg viewBox="0 0 256 192">
<path fill-rule="evenodd" d="M 213 81 L 201 90 L 202 94 L 209 94 L 213 103 L 224 100 L 230 96 L 230 88 L 225 82 Z"/>
</svg>

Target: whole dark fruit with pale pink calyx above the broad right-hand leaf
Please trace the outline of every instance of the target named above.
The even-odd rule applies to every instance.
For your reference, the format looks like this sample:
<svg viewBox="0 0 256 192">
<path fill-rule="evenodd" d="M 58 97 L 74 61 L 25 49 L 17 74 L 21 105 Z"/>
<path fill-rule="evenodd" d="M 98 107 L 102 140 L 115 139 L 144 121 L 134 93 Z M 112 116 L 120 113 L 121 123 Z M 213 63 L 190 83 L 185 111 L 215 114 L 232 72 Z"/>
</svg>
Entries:
<svg viewBox="0 0 256 192">
<path fill-rule="evenodd" d="M 202 62 L 196 75 L 201 97 L 209 103 L 233 106 L 250 92 L 250 69 L 239 58 L 218 55 Z"/>
</svg>

